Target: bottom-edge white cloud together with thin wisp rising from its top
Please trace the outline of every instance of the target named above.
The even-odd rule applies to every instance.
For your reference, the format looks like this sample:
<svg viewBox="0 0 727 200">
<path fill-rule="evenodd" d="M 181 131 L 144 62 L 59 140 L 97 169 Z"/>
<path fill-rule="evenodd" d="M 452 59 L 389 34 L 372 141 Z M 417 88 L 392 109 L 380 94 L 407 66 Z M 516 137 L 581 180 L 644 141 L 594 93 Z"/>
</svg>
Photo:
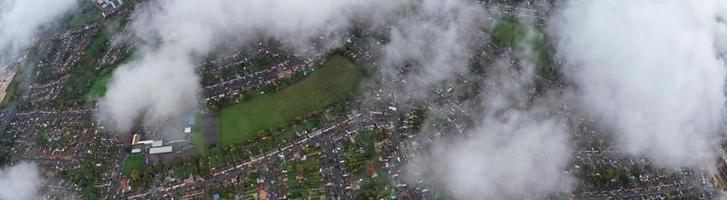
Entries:
<svg viewBox="0 0 727 200">
<path fill-rule="evenodd" d="M 568 127 L 548 106 L 558 98 L 529 101 L 535 67 L 518 70 L 508 59 L 489 68 L 485 113 L 465 135 L 434 143 L 409 166 L 456 199 L 543 198 L 568 192 L 564 171 L 572 152 Z"/>
</svg>

